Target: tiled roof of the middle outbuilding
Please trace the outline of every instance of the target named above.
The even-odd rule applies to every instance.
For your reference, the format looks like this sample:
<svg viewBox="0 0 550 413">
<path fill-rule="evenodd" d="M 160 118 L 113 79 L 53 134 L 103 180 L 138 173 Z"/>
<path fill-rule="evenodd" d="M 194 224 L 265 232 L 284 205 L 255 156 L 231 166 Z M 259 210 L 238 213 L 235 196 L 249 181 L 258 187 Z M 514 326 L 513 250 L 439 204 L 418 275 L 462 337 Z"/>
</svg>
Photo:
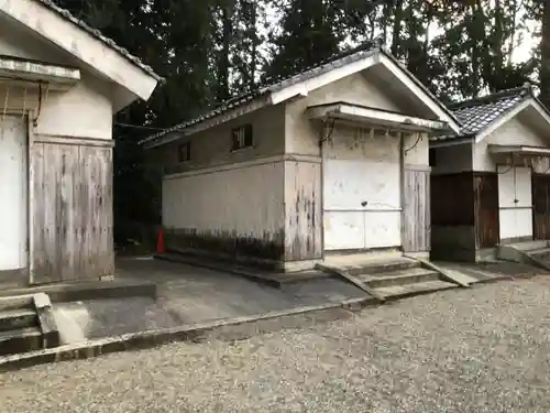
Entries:
<svg viewBox="0 0 550 413">
<path fill-rule="evenodd" d="M 148 138 L 145 138 L 143 141 L 141 141 L 141 143 L 151 142 L 151 141 L 154 141 L 158 138 L 162 138 L 170 132 L 184 130 L 184 129 L 189 128 L 194 124 L 200 123 L 207 119 L 215 118 L 215 117 L 217 117 L 217 116 L 219 116 L 228 110 L 231 110 L 231 109 L 237 108 L 239 106 L 251 102 L 254 99 L 267 96 L 272 93 L 279 91 L 286 87 L 299 84 L 304 80 L 308 80 L 312 77 L 322 75 L 322 74 L 330 72 L 332 69 L 336 69 L 336 68 L 349 65 L 351 63 L 361 61 L 361 59 L 363 59 L 367 56 L 371 56 L 375 53 L 378 53 L 378 52 L 384 53 L 387 57 L 389 57 L 426 94 L 428 94 L 428 96 L 430 96 L 431 98 L 433 98 L 437 101 L 437 98 L 415 76 L 413 76 L 405 67 L 403 67 L 403 65 L 394 56 L 392 56 L 389 53 L 384 51 L 384 47 L 382 46 L 381 40 L 375 40 L 374 42 L 366 42 L 366 43 L 362 44 L 361 46 L 355 47 L 353 50 L 336 54 L 336 55 L 329 57 L 328 59 L 319 62 L 315 66 L 310 66 L 310 67 L 305 68 L 304 70 L 301 70 L 300 73 L 298 73 L 296 75 L 293 75 L 289 77 L 270 78 L 266 80 L 266 83 L 263 86 L 258 87 L 256 90 L 249 93 L 249 94 L 238 96 L 238 97 L 232 98 L 230 100 L 227 100 L 223 104 L 221 104 L 220 106 L 218 106 L 216 109 L 202 115 L 201 117 L 183 122 L 183 123 L 179 123 L 179 124 L 176 124 L 176 126 L 174 126 L 169 129 L 166 129 L 162 132 L 155 133 Z M 448 109 L 442 104 L 441 104 L 441 108 L 443 110 L 448 111 Z M 449 116 L 452 118 L 452 113 L 450 111 L 448 111 L 448 112 L 449 112 Z"/>
</svg>

